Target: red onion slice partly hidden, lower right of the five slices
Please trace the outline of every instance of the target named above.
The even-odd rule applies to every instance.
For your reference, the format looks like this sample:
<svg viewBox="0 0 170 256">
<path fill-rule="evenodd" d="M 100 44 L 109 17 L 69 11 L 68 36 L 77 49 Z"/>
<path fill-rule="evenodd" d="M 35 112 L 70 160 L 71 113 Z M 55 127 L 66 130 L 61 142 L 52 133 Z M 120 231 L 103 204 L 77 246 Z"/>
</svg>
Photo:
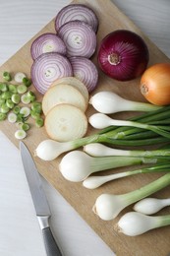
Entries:
<svg viewBox="0 0 170 256">
<path fill-rule="evenodd" d="M 85 57 L 71 57 L 70 62 L 74 76 L 85 84 L 89 93 L 92 92 L 98 82 L 98 71 L 95 65 Z"/>
</svg>

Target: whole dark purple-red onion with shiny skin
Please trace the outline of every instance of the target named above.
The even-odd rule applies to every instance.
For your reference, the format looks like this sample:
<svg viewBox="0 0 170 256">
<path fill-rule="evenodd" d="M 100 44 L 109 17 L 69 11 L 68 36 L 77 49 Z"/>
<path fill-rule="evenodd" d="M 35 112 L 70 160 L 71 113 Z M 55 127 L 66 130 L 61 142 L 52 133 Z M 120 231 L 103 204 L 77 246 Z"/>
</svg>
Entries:
<svg viewBox="0 0 170 256">
<path fill-rule="evenodd" d="M 119 81 L 128 81 L 142 75 L 149 53 L 140 35 L 119 30 L 110 32 L 103 38 L 97 58 L 106 75 Z"/>
</svg>

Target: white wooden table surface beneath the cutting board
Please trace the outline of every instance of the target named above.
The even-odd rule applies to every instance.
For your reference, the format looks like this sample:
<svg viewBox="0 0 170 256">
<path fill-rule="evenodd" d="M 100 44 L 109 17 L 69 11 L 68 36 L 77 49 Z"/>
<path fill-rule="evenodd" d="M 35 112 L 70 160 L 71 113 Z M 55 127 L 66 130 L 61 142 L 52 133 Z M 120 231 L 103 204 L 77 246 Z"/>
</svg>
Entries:
<svg viewBox="0 0 170 256">
<path fill-rule="evenodd" d="M 0 64 L 40 31 L 68 0 L 0 0 Z M 169 0 L 113 0 L 170 56 Z M 43 178 L 51 223 L 65 256 L 114 253 Z M 19 150 L 0 132 L 0 255 L 45 256 Z"/>
</svg>

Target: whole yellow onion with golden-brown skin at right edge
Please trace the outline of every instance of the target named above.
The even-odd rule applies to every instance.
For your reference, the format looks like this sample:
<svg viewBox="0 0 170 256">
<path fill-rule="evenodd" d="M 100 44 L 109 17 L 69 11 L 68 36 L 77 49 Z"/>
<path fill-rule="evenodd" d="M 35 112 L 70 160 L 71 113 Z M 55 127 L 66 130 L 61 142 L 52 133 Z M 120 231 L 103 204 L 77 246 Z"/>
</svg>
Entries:
<svg viewBox="0 0 170 256">
<path fill-rule="evenodd" d="M 142 74 L 142 95 L 152 104 L 170 104 L 170 63 L 159 63 Z"/>
</svg>

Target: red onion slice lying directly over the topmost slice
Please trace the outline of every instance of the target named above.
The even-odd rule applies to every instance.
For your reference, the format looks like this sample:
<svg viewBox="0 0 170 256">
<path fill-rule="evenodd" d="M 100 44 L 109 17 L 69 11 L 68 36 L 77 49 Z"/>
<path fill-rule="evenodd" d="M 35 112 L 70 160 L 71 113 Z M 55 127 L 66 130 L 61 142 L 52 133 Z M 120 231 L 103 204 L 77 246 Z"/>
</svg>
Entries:
<svg viewBox="0 0 170 256">
<path fill-rule="evenodd" d="M 68 22 L 59 29 L 58 35 L 66 44 L 68 56 L 90 58 L 95 51 L 95 32 L 84 22 Z"/>
</svg>

